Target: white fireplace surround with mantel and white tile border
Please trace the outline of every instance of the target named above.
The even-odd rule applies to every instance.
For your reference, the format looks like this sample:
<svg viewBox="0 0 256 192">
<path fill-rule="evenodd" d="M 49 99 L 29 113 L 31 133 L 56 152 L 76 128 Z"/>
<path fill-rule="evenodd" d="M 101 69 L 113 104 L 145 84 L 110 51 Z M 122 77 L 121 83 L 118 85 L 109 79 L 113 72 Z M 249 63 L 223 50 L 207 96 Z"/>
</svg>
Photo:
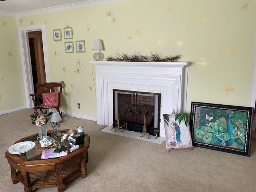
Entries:
<svg viewBox="0 0 256 192">
<path fill-rule="evenodd" d="M 186 111 L 190 62 L 90 61 L 95 66 L 97 123 L 113 123 L 113 89 L 161 93 L 160 135 L 165 137 L 163 114 Z"/>
</svg>

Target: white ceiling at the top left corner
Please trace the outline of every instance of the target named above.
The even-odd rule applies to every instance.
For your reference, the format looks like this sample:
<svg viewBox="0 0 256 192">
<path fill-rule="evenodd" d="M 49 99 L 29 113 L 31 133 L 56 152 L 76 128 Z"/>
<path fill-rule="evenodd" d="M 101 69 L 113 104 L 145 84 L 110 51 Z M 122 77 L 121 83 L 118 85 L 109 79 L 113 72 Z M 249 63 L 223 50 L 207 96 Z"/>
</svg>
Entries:
<svg viewBox="0 0 256 192">
<path fill-rule="evenodd" d="M 93 2 L 97 0 L 4 0 L 0 1 L 0 11 L 17 14 L 26 11 L 85 1 Z"/>
</svg>

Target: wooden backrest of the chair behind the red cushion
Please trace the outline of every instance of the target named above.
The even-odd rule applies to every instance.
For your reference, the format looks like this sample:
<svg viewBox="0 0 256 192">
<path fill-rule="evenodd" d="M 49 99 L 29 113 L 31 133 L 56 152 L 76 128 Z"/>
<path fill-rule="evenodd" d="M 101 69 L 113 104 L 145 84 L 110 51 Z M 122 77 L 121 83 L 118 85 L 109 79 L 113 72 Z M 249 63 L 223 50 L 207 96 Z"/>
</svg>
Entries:
<svg viewBox="0 0 256 192">
<path fill-rule="evenodd" d="M 50 93 L 50 92 L 60 92 L 60 96 L 61 96 L 61 92 L 62 92 L 62 84 L 60 83 L 44 83 L 44 84 L 39 84 L 37 82 L 36 84 L 37 87 L 37 94 L 38 94 L 38 100 L 37 106 L 40 106 L 40 101 L 42 102 L 42 93 Z M 60 99 L 60 97 L 59 97 Z"/>
</svg>

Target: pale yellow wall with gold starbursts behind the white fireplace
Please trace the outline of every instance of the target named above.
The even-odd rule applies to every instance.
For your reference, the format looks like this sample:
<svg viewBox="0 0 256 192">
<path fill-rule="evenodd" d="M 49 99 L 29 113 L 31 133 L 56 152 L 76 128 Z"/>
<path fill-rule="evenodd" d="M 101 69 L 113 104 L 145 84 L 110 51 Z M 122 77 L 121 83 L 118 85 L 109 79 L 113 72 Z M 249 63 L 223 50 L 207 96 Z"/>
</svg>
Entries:
<svg viewBox="0 0 256 192">
<path fill-rule="evenodd" d="M 247 3 L 131 0 L 20 17 L 18 25 L 46 24 L 50 80 L 66 84 L 63 111 L 96 117 L 94 68 L 89 61 L 93 60 L 93 41 L 100 38 L 105 56 L 182 54 L 180 60 L 191 62 L 186 106 L 190 112 L 192 101 L 247 106 L 256 0 Z M 64 42 L 70 41 L 64 40 L 63 28 L 67 25 L 74 30 L 73 42 L 85 40 L 85 53 L 65 53 Z M 62 29 L 62 41 L 53 40 L 53 29 Z M 80 72 L 76 72 L 77 67 Z M 228 90 L 222 92 L 225 87 Z"/>
</svg>

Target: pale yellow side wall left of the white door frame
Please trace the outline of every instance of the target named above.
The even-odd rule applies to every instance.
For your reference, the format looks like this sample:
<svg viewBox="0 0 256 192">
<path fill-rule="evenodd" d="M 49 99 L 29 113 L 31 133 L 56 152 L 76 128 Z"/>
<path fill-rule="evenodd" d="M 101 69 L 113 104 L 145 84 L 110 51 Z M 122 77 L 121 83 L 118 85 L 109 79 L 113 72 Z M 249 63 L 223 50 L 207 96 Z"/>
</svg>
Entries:
<svg viewBox="0 0 256 192">
<path fill-rule="evenodd" d="M 25 105 L 15 18 L 0 15 L 0 112 Z"/>
</svg>

